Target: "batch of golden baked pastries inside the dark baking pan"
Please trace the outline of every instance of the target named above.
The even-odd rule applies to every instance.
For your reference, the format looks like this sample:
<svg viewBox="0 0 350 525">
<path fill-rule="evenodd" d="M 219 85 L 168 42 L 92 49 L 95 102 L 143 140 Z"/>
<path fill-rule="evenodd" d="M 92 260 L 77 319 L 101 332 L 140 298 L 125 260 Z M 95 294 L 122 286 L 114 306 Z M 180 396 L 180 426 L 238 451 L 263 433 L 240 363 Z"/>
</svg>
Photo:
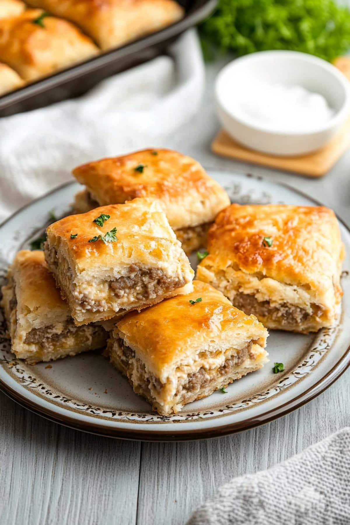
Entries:
<svg viewBox="0 0 350 525">
<path fill-rule="evenodd" d="M 160 30 L 184 15 L 174 0 L 27 4 L 0 0 L 0 95 Z"/>
</svg>

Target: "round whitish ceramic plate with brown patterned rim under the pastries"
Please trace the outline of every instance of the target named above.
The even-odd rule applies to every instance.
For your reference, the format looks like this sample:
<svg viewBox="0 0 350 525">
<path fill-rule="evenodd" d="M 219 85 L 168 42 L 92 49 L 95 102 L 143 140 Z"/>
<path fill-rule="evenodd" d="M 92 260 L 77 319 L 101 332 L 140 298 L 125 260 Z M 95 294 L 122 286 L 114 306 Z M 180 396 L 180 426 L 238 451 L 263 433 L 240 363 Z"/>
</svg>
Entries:
<svg viewBox="0 0 350 525">
<path fill-rule="evenodd" d="M 287 186 L 219 171 L 209 172 L 225 186 L 232 202 L 315 205 Z M 60 217 L 81 186 L 68 184 L 21 209 L 0 227 L 0 280 L 16 251 L 28 247 L 48 225 L 48 212 Z M 316 203 L 317 204 L 317 203 Z M 340 224 L 350 268 L 350 232 Z M 194 261 L 193 261 L 194 262 Z M 195 264 L 195 262 L 194 262 Z M 142 440 L 185 440 L 221 436 L 280 417 L 320 394 L 350 363 L 350 335 L 344 319 L 350 317 L 350 279 L 343 272 L 342 316 L 337 326 L 313 335 L 271 332 L 270 363 L 216 392 L 186 405 L 172 416 L 151 411 L 143 398 L 99 353 L 81 354 L 30 366 L 10 353 L 1 317 L 0 386 L 15 401 L 52 421 L 112 437 Z M 2 314 L 0 313 L 0 316 Z M 273 363 L 285 371 L 272 373 Z"/>
</svg>

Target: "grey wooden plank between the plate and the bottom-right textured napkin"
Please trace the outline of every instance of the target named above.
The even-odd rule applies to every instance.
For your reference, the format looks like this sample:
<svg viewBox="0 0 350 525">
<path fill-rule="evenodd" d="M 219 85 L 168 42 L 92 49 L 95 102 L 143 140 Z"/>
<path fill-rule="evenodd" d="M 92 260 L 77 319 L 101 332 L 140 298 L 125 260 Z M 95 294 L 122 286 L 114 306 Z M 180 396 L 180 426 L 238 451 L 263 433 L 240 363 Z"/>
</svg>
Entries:
<svg viewBox="0 0 350 525">
<path fill-rule="evenodd" d="M 349 394 L 350 370 L 316 400 L 267 425 L 201 442 L 142 444 L 137 525 L 183 525 L 233 477 L 269 468 L 348 426 Z"/>
</svg>

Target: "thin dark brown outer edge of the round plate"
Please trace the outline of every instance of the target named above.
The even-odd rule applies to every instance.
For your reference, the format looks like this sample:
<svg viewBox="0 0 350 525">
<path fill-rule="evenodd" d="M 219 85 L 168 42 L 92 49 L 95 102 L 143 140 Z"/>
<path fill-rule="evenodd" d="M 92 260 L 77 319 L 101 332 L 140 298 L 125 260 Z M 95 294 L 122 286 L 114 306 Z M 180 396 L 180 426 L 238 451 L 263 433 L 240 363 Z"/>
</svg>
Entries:
<svg viewBox="0 0 350 525">
<path fill-rule="evenodd" d="M 208 171 L 216 171 L 216 172 L 222 172 L 222 173 L 228 173 L 229 170 L 224 169 L 208 169 Z M 252 175 L 250 173 L 239 173 L 239 175 L 243 175 L 249 178 L 255 178 L 259 181 L 266 181 L 268 183 L 273 183 L 274 185 L 278 185 L 284 188 L 287 188 L 287 190 L 298 194 L 304 198 L 309 199 L 309 201 L 315 203 L 316 205 L 322 205 L 319 201 L 317 201 L 315 198 L 305 194 L 304 192 L 298 190 L 297 188 L 292 187 L 291 185 L 283 182 L 275 182 L 275 181 L 269 181 L 268 179 L 258 175 Z M 8 222 L 8 220 L 13 219 L 16 215 L 24 211 L 24 209 L 33 206 L 33 204 L 45 199 L 49 195 L 52 195 L 66 186 L 75 184 L 74 181 L 67 182 L 64 184 L 61 184 L 60 186 L 50 190 L 44 195 L 41 195 L 40 197 L 37 197 L 36 199 L 33 199 L 30 203 L 22 206 L 19 208 L 15 213 L 13 213 L 10 217 L 5 219 L 1 224 L 0 228 Z M 337 215 L 337 219 L 342 223 L 344 228 L 347 230 L 347 232 L 350 234 L 350 228 L 347 226 L 347 224 L 344 222 L 342 218 L 340 218 Z M 266 412 L 263 412 L 262 414 L 258 414 L 257 416 L 252 416 L 250 418 L 241 419 L 240 421 L 234 422 L 234 423 L 228 423 L 223 424 L 219 426 L 214 426 L 210 428 L 205 429 L 190 429 L 190 430 L 157 430 L 156 435 L 152 435 L 147 433 L 147 431 L 143 431 L 142 429 L 129 429 L 129 428 L 116 428 L 116 427 L 108 427 L 108 426 L 102 426 L 98 423 L 93 423 L 92 421 L 81 421 L 79 419 L 73 418 L 66 414 L 60 414 L 56 411 L 54 411 L 51 408 L 39 405 L 30 399 L 28 399 L 26 396 L 22 395 L 20 392 L 17 392 L 9 386 L 5 381 L 3 381 L 0 378 L 0 390 L 7 395 L 9 398 L 11 398 L 13 401 L 18 403 L 19 405 L 29 409 L 31 412 L 43 416 L 46 419 L 49 419 L 50 421 L 58 424 L 62 424 L 64 426 L 74 428 L 77 430 L 82 430 L 83 432 L 88 432 L 91 434 L 96 435 L 102 435 L 107 437 L 114 437 L 114 438 L 122 438 L 122 439 L 131 439 L 131 440 L 142 440 L 142 441 L 149 441 L 149 442 L 172 442 L 172 441 L 186 441 L 186 440 L 195 440 L 195 439 L 209 439 L 213 437 L 220 437 L 225 436 L 229 434 L 234 434 L 236 432 L 242 432 L 243 430 L 247 430 L 250 428 L 254 428 L 257 426 L 260 426 L 265 423 L 269 423 L 271 421 L 274 421 L 274 419 L 277 419 L 279 417 L 282 417 L 284 415 L 287 415 L 294 410 L 300 408 L 304 404 L 308 403 L 309 401 L 312 401 L 317 395 L 320 395 L 322 392 L 324 392 L 328 387 L 330 387 L 348 368 L 350 365 L 350 344 L 347 346 L 347 349 L 344 351 L 341 358 L 333 365 L 331 370 L 328 370 L 322 377 L 319 379 L 316 383 L 311 385 L 309 388 L 307 388 L 305 391 L 301 392 L 300 394 L 293 397 L 291 400 L 286 401 L 282 405 L 269 409 Z"/>
</svg>

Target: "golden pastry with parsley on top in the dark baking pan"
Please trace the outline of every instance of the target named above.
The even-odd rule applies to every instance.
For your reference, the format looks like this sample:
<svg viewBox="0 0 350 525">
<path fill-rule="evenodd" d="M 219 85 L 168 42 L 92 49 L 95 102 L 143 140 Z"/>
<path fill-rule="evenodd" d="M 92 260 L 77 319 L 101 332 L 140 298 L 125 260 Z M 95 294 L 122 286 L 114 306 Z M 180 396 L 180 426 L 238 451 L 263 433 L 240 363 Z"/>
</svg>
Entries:
<svg viewBox="0 0 350 525">
<path fill-rule="evenodd" d="M 27 9 L 0 20 L 0 60 L 23 79 L 37 80 L 98 54 L 90 38 L 66 20 L 46 16 L 44 27 L 34 23 L 41 14 Z"/>
</svg>

